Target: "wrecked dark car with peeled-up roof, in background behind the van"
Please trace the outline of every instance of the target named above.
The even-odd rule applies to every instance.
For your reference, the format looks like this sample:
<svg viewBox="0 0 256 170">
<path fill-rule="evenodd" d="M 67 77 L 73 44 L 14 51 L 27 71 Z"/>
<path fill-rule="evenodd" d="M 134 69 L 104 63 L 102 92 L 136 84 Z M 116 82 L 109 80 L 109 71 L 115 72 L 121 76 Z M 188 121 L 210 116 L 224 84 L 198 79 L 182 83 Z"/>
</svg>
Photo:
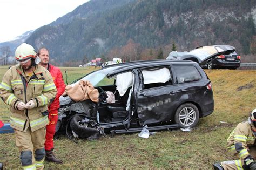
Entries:
<svg viewBox="0 0 256 170">
<path fill-rule="evenodd" d="M 233 53 L 234 51 L 235 51 L 235 48 L 230 45 L 199 46 L 196 49 L 181 56 L 179 59 L 192 60 L 194 62 L 199 63 L 201 67 L 208 66 L 212 68 L 212 64 L 217 64 L 217 63 L 221 65 L 223 64 L 223 65 L 237 67 L 238 64 L 240 66 L 240 56 L 237 56 L 237 59 L 235 60 L 233 60 L 234 57 L 224 56 L 224 55 L 230 55 L 230 53 Z"/>
</svg>

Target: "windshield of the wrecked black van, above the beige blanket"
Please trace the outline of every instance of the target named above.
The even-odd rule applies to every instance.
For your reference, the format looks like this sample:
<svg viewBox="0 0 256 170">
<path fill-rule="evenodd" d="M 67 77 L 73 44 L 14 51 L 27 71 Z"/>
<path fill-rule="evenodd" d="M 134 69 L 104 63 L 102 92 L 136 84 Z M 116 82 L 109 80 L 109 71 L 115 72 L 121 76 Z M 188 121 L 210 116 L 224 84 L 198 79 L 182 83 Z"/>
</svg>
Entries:
<svg viewBox="0 0 256 170">
<path fill-rule="evenodd" d="M 102 81 L 107 76 L 107 74 L 111 73 L 112 70 L 114 70 L 114 69 L 116 69 L 116 68 L 115 67 L 110 67 L 110 68 L 106 68 L 106 69 L 100 69 L 100 70 L 97 70 L 97 71 L 93 71 L 93 72 L 87 74 L 86 76 L 81 77 L 81 78 L 73 81 L 70 85 L 74 86 L 75 84 L 78 84 L 79 80 L 88 80 L 88 81 L 90 81 L 90 83 L 93 86 L 97 86 L 98 83 L 100 81 Z"/>
</svg>

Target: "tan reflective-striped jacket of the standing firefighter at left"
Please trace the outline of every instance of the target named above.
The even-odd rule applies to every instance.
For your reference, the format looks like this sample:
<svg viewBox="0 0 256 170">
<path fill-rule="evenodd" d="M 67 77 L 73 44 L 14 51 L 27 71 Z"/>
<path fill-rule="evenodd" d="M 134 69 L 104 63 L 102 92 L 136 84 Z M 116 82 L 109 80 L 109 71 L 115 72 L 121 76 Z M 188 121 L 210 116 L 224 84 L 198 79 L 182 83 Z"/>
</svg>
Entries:
<svg viewBox="0 0 256 170">
<path fill-rule="evenodd" d="M 10 126 L 25 132 L 28 127 L 36 131 L 48 124 L 48 104 L 56 96 L 56 87 L 51 74 L 44 67 L 36 65 L 31 77 L 26 77 L 21 66 L 12 66 L 4 74 L 0 84 L 0 96 L 10 105 Z M 18 110 L 18 103 L 33 100 L 32 109 Z"/>
</svg>

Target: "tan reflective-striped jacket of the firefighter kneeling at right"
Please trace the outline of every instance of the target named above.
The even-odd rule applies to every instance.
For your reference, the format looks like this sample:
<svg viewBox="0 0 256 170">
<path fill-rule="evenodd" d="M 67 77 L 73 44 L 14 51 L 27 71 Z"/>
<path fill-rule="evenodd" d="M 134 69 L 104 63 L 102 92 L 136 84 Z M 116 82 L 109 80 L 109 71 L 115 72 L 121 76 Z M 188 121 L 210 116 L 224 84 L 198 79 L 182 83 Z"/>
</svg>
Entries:
<svg viewBox="0 0 256 170">
<path fill-rule="evenodd" d="M 239 123 L 227 139 L 227 147 L 233 154 L 238 154 L 240 159 L 250 155 L 248 147 L 254 145 L 256 129 L 251 119 Z"/>
</svg>

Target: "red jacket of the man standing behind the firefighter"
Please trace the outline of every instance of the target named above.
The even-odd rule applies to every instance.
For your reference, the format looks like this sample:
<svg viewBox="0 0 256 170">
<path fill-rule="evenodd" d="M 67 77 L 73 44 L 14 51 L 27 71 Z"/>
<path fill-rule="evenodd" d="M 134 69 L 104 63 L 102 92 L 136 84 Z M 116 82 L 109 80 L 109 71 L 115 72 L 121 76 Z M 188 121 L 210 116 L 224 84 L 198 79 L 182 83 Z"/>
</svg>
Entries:
<svg viewBox="0 0 256 170">
<path fill-rule="evenodd" d="M 66 85 L 63 80 L 62 72 L 58 67 L 48 64 L 47 70 L 51 73 L 53 82 L 57 88 L 57 94 L 50 105 L 50 110 L 56 110 L 59 108 L 59 97 L 64 93 Z"/>
</svg>

